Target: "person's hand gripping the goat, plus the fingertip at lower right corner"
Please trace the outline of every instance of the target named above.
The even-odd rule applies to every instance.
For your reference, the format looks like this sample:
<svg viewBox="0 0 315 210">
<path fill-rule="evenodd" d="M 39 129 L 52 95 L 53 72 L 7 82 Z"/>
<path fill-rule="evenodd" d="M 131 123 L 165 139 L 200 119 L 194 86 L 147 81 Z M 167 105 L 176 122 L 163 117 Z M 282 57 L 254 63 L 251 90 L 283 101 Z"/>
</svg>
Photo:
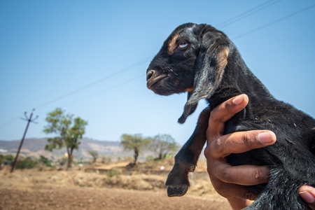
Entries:
<svg viewBox="0 0 315 210">
<path fill-rule="evenodd" d="M 276 135 L 268 130 L 223 135 L 225 122 L 247 104 L 248 97 L 241 94 L 218 105 L 211 111 L 207 130 L 207 148 L 204 155 L 207 158 L 209 177 L 217 193 L 228 199 L 232 209 L 243 209 L 255 200 L 256 196 L 244 186 L 267 183 L 269 169 L 254 165 L 232 167 L 226 162 L 225 157 L 231 153 L 244 153 L 276 142 Z M 315 210 L 315 188 L 301 186 L 297 193 L 311 209 Z"/>
</svg>

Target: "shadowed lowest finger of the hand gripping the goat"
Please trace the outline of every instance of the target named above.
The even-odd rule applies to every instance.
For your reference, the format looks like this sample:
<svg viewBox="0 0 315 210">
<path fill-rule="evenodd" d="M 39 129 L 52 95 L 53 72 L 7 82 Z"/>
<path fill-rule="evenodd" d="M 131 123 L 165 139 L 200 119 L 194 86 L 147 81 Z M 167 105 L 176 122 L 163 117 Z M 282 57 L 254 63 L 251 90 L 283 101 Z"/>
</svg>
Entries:
<svg viewBox="0 0 315 210">
<path fill-rule="evenodd" d="M 223 197 L 239 197 L 246 200 L 255 200 L 257 198 L 251 191 L 244 186 L 234 183 L 224 183 L 216 178 L 211 178 L 211 183 L 216 192 Z"/>
</svg>

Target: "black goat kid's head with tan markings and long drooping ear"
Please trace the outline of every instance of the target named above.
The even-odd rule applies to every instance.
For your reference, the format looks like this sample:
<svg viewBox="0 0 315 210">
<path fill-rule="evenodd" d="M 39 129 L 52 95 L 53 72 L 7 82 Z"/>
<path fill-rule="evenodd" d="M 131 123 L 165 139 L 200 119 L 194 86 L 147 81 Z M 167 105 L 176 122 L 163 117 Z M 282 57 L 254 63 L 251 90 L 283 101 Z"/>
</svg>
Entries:
<svg viewBox="0 0 315 210">
<path fill-rule="evenodd" d="M 179 123 L 209 98 L 221 83 L 228 62 L 230 40 L 209 25 L 186 23 L 162 45 L 146 71 L 147 87 L 157 94 L 188 92 Z"/>
</svg>

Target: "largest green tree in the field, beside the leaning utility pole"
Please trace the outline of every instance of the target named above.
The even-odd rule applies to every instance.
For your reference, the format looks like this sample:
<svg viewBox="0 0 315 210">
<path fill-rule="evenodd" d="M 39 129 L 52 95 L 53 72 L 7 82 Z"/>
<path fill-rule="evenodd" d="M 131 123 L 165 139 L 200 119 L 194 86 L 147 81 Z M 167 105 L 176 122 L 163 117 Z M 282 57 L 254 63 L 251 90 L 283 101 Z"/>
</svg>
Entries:
<svg viewBox="0 0 315 210">
<path fill-rule="evenodd" d="M 48 123 L 44 127 L 43 132 L 46 134 L 57 134 L 57 137 L 49 138 L 45 150 L 52 151 L 53 149 L 60 149 L 66 147 L 68 154 L 67 168 L 71 167 L 73 160 L 73 150 L 78 149 L 80 139 L 85 134 L 85 125 L 87 122 L 81 118 L 74 118 L 71 114 L 64 114 L 62 109 L 55 109 L 48 113 L 46 119 Z"/>
</svg>

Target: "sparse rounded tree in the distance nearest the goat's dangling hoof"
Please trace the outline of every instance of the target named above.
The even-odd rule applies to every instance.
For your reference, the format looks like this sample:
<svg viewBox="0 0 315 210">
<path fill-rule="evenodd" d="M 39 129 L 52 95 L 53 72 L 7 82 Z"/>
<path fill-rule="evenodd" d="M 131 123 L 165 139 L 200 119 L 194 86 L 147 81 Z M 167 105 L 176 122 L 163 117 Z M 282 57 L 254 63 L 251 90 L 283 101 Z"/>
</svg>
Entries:
<svg viewBox="0 0 315 210">
<path fill-rule="evenodd" d="M 148 150 L 158 156 L 157 160 L 164 159 L 170 152 L 176 151 L 175 139 L 169 134 L 159 134 L 150 139 Z"/>
</svg>

